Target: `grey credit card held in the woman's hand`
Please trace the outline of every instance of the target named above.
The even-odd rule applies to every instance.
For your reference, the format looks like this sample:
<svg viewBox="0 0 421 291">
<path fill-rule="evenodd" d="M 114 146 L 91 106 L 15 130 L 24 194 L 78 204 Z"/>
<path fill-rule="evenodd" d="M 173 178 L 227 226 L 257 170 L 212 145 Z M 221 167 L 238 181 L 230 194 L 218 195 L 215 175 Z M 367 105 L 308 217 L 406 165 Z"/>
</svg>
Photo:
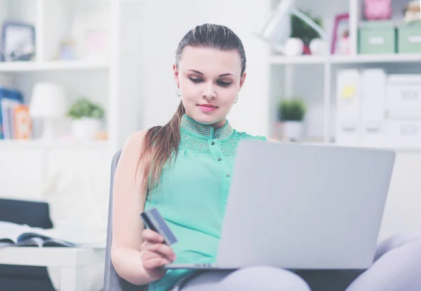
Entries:
<svg viewBox="0 0 421 291">
<path fill-rule="evenodd" d="M 163 239 L 167 245 L 172 245 L 173 243 L 178 242 L 178 239 L 175 237 L 173 231 L 171 231 L 170 227 L 166 223 L 165 219 L 163 219 L 157 208 L 151 208 L 145 212 L 142 212 L 140 217 L 142 217 L 142 220 L 148 229 L 151 229 L 152 231 L 155 231 L 163 236 Z"/>
</svg>

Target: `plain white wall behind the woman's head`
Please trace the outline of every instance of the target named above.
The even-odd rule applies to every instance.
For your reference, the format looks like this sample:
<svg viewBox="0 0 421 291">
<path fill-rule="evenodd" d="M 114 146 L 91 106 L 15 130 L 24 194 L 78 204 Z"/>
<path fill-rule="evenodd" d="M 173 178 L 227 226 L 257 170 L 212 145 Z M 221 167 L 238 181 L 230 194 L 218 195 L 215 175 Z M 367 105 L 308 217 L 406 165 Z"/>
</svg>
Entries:
<svg viewBox="0 0 421 291">
<path fill-rule="evenodd" d="M 128 5 L 128 4 L 124 4 Z M 239 35 L 248 58 L 247 79 L 239 102 L 229 114 L 237 130 L 267 135 L 269 124 L 268 50 L 253 36 L 253 28 L 269 9 L 269 1 L 181 0 L 144 1 L 131 4 L 145 7 L 136 36 L 142 38 L 144 110 L 142 128 L 166 123 L 180 98 L 175 94 L 172 65 L 175 49 L 189 29 L 204 22 L 227 25 Z"/>
</svg>

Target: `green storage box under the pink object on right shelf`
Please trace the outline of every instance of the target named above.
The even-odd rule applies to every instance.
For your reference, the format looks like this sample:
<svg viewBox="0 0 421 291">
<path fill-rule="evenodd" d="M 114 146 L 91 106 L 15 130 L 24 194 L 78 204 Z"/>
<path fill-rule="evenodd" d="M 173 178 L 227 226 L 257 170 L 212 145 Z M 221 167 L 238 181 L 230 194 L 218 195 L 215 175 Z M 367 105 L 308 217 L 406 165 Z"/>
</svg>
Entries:
<svg viewBox="0 0 421 291">
<path fill-rule="evenodd" d="M 393 21 L 363 21 L 359 27 L 359 53 L 396 53 L 396 27 Z"/>
</svg>

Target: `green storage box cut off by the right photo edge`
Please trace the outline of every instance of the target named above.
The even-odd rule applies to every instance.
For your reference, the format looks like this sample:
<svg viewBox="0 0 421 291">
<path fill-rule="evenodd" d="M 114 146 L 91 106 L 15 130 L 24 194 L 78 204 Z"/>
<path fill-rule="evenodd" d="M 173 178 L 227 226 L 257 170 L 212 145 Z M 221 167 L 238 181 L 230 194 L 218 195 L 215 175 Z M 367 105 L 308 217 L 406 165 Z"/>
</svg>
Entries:
<svg viewBox="0 0 421 291">
<path fill-rule="evenodd" d="M 398 51 L 399 53 L 421 53 L 421 23 L 399 27 Z"/>
</svg>

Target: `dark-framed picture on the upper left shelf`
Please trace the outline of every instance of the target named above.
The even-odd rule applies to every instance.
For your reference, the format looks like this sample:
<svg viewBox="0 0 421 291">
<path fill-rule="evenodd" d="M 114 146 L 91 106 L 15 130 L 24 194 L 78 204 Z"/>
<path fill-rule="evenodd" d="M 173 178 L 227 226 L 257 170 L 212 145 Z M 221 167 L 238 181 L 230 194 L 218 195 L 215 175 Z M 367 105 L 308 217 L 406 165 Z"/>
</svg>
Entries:
<svg viewBox="0 0 421 291">
<path fill-rule="evenodd" d="M 4 22 L 1 28 L 1 62 L 32 60 L 36 53 L 35 27 L 23 22 Z"/>
</svg>

